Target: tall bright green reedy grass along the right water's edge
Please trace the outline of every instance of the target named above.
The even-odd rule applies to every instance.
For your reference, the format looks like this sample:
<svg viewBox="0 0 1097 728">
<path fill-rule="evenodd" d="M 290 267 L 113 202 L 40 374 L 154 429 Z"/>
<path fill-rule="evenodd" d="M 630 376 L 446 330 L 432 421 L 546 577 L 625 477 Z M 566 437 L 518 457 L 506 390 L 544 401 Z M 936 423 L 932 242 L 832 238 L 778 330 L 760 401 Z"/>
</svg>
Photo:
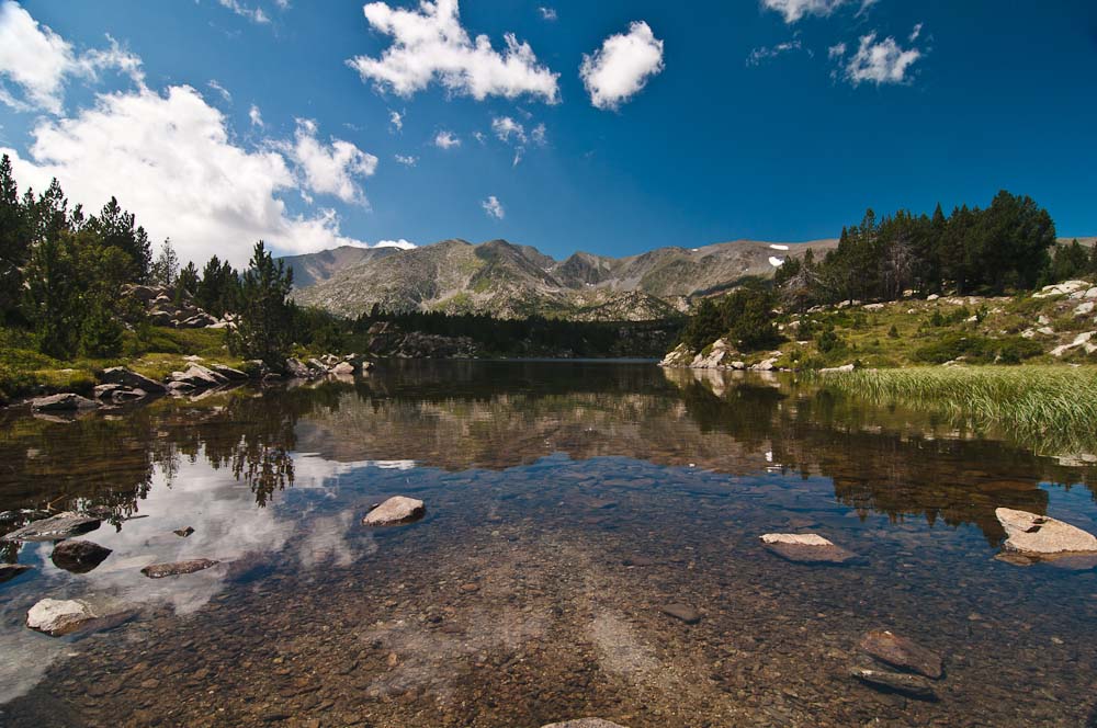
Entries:
<svg viewBox="0 0 1097 728">
<path fill-rule="evenodd" d="M 1037 452 L 1097 452 L 1097 366 L 909 367 L 812 376 L 880 405 L 998 430 Z"/>
</svg>

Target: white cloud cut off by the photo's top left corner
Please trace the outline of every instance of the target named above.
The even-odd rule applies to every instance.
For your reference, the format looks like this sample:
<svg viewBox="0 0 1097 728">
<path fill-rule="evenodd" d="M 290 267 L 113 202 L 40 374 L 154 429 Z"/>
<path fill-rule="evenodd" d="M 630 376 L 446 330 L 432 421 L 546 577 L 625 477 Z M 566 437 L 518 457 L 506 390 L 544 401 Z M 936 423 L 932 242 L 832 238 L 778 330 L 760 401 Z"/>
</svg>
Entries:
<svg viewBox="0 0 1097 728">
<path fill-rule="evenodd" d="M 77 53 L 72 45 L 39 24 L 12 0 L 0 2 L 0 103 L 16 111 L 61 113 L 69 77 L 95 80 L 114 69 L 142 82 L 142 61 L 114 38 L 109 47 Z M 18 88 L 9 87 L 12 84 Z"/>
</svg>

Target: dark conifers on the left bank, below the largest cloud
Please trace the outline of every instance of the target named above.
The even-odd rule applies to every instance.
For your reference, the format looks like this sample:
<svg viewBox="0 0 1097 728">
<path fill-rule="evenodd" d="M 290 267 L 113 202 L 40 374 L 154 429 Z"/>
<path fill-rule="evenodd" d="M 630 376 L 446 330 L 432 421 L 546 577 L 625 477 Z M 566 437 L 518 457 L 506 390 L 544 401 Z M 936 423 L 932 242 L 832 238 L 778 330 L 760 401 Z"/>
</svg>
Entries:
<svg viewBox="0 0 1097 728">
<path fill-rule="evenodd" d="M 246 270 L 216 255 L 199 272 L 180 269 L 170 240 L 154 259 L 145 229 L 117 200 L 98 214 L 69 206 L 57 180 L 45 192 L 19 192 L 7 155 L 0 159 L 0 323 L 32 333 L 56 359 L 115 357 L 142 346 L 148 322 L 132 285 L 159 285 L 177 302 L 211 315 L 235 312 L 228 344 L 248 359 L 281 365 L 294 341 L 308 342 L 315 315 L 289 299 L 292 271 L 262 241 Z"/>
</svg>

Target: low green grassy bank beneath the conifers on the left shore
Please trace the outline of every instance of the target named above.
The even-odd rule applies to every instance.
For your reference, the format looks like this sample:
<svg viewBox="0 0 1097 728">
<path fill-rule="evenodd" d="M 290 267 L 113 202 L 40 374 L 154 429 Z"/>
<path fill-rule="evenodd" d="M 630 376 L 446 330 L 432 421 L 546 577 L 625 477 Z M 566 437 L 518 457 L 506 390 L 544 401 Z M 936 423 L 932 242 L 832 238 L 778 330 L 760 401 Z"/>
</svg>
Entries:
<svg viewBox="0 0 1097 728">
<path fill-rule="evenodd" d="M 109 366 L 127 366 L 154 379 L 185 369 L 184 356 L 201 356 L 206 364 L 240 366 L 231 356 L 223 330 L 151 328 L 144 337 L 126 333 L 126 355 L 115 359 L 57 360 L 37 351 L 33 334 L 0 328 L 0 398 L 27 397 L 57 391 L 88 394 L 97 374 Z"/>
</svg>

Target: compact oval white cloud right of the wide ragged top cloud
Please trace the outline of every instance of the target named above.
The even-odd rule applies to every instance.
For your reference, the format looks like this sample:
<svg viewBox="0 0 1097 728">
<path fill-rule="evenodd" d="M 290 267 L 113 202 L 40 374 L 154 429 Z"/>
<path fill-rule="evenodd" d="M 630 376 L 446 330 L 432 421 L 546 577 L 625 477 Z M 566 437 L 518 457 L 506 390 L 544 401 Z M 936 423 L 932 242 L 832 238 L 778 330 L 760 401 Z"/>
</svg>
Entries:
<svg viewBox="0 0 1097 728">
<path fill-rule="evenodd" d="M 619 109 L 640 92 L 647 79 L 663 71 L 663 41 L 644 21 L 627 34 L 611 35 L 591 55 L 583 55 L 579 76 L 596 109 Z"/>
</svg>

